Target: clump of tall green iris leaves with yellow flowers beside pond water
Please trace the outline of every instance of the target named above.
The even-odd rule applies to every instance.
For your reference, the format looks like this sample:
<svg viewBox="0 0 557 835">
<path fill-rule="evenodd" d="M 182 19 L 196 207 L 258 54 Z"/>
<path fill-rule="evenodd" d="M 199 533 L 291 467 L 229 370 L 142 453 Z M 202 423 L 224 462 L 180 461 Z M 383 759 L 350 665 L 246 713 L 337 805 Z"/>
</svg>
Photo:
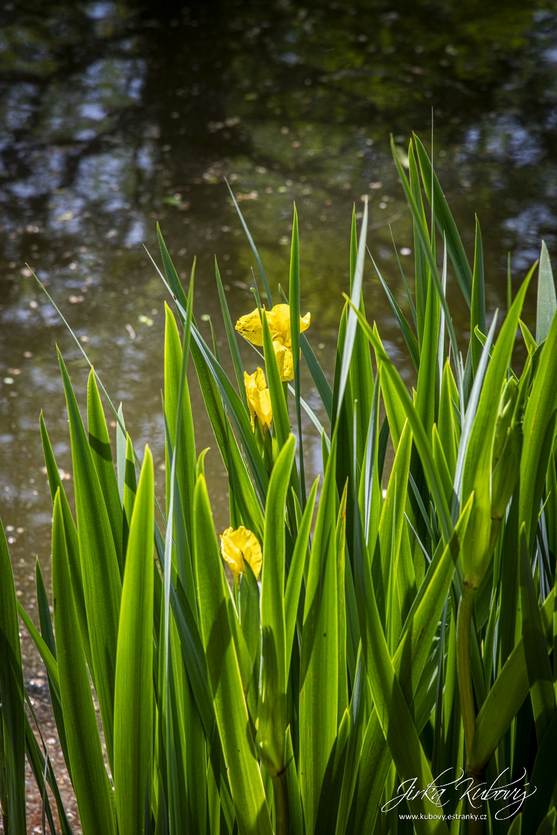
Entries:
<svg viewBox="0 0 557 835">
<path fill-rule="evenodd" d="M 235 326 L 216 270 L 235 381 L 195 325 L 194 271 L 186 295 L 159 235 L 175 303 L 166 308 L 164 508 L 149 448 L 139 462 L 99 375 L 91 368 L 86 430 L 59 357 L 75 519 L 41 416 L 53 620 L 37 564 L 40 632 L 18 603 L 0 541 L 7 835 L 26 832 L 25 757 L 41 792 L 48 782 L 62 832 L 72 832 L 33 734 L 18 618 L 46 666 L 85 835 L 503 833 L 511 820 L 513 835 L 553 831 L 549 256 L 543 245 L 535 337 L 520 316 L 536 265 L 514 299 L 509 280 L 506 316 L 488 329 L 479 225 L 470 266 L 423 144 L 413 138 L 409 178 L 394 145 L 393 158 L 413 218 L 414 297 L 404 279 L 412 321 L 382 283 L 416 367 L 412 397 L 366 318 L 367 206 L 359 240 L 352 220 L 332 387 L 311 350 L 311 311 L 301 316 L 296 211 L 288 295 L 277 304 L 255 245 L 266 307 L 255 291 L 255 309 Z M 470 311 L 465 356 L 444 293 L 449 262 Z M 245 371 L 235 331 L 265 371 Z M 520 374 L 518 331 L 527 352 Z M 195 449 L 190 357 L 229 479 L 230 527 L 220 539 L 205 452 Z M 301 362 L 326 427 L 302 397 Z M 99 387 L 117 421 L 116 468 Z M 306 483 L 302 410 L 321 434 L 321 485 Z"/>
</svg>

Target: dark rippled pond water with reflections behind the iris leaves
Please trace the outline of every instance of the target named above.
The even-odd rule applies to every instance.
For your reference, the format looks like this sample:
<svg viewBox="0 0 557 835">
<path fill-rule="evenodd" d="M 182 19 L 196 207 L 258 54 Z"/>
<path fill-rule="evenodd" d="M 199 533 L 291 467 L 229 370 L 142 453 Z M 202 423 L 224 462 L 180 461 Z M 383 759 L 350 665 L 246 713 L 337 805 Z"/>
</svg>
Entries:
<svg viewBox="0 0 557 835">
<path fill-rule="evenodd" d="M 250 311 L 255 260 L 224 177 L 241 199 L 271 287 L 287 284 L 292 201 L 300 218 L 301 297 L 332 372 L 348 285 L 352 205 L 370 200 L 369 245 L 407 310 L 389 225 L 412 284 L 412 229 L 388 149 L 416 130 L 429 147 L 468 252 L 477 212 L 489 314 L 506 305 L 539 253 L 555 251 L 557 8 L 524 0 L 312 3 L 69 3 L 20 0 L 0 12 L 0 514 L 18 594 L 34 605 L 33 562 L 47 573 L 51 504 L 43 409 L 68 493 L 71 459 L 58 343 L 84 405 L 87 367 L 29 267 L 48 286 L 138 450 L 149 440 L 164 483 L 160 413 L 165 288 L 160 221 L 195 314 L 224 328 L 214 257 L 230 311 Z M 28 266 L 27 266 L 28 265 Z M 392 311 L 367 263 L 367 315 L 408 382 Z M 458 333 L 467 311 L 449 270 Z M 524 317 L 532 323 L 535 289 Z M 242 346 L 248 367 L 256 355 Z M 199 448 L 216 524 L 226 482 L 195 378 Z M 304 380 L 311 403 L 316 394 Z M 311 436 L 311 429 L 308 428 Z M 315 433 L 315 469 L 319 443 Z"/>
</svg>

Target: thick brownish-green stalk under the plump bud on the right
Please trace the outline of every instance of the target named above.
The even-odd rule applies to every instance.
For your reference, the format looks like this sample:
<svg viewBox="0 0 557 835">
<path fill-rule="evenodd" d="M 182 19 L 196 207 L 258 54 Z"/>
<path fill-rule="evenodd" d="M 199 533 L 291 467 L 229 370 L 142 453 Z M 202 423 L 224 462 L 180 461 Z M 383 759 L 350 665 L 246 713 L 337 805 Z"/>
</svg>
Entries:
<svg viewBox="0 0 557 835">
<path fill-rule="evenodd" d="M 466 746 L 468 762 L 470 752 L 472 751 L 473 735 L 476 731 L 476 711 L 473 706 L 470 628 L 472 625 L 473 598 L 477 588 L 477 584 L 473 584 L 469 579 L 464 578 L 463 594 L 458 605 L 457 619 L 458 690 L 460 691 L 460 704 L 463 711 L 464 744 Z M 473 780 L 473 791 L 473 788 L 481 782 L 481 774 L 472 772 L 468 768 L 468 777 L 471 777 Z M 471 802 L 469 802 L 468 810 L 473 815 L 480 817 L 478 808 L 473 807 Z M 475 821 L 471 818 L 468 821 L 468 835 L 482 835 L 482 832 L 484 832 L 484 824 L 481 821 Z"/>
</svg>

